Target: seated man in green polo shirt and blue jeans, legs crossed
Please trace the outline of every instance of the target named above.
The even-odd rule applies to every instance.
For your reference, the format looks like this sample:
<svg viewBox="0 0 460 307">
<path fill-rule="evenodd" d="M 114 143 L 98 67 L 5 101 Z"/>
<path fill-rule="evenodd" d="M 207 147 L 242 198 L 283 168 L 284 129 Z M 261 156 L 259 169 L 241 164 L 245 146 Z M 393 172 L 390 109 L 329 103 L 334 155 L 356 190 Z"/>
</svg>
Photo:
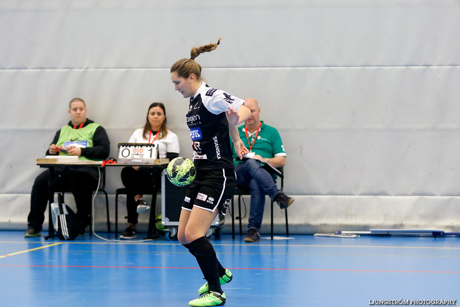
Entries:
<svg viewBox="0 0 460 307">
<path fill-rule="evenodd" d="M 263 167 L 269 163 L 275 168 L 286 164 L 286 152 L 278 131 L 259 120 L 260 108 L 254 98 L 246 99 L 246 106 L 251 110 L 251 117 L 244 126 L 238 127 L 239 136 L 249 153 L 240 160 L 234 154 L 236 183 L 249 187 L 251 207 L 245 242 L 257 242 L 260 238 L 260 226 L 265 208 L 265 194 L 284 209 L 293 203 L 294 198 L 286 196 L 276 186 L 274 177 Z"/>
</svg>

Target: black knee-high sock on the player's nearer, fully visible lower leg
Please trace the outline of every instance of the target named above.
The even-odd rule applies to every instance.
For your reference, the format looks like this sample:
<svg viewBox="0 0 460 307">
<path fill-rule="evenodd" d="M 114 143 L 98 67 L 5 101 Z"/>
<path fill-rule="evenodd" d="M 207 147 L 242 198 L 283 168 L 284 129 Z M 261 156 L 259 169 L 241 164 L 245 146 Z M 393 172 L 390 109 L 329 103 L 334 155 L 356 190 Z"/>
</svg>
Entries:
<svg viewBox="0 0 460 307">
<path fill-rule="evenodd" d="M 203 272 L 210 291 L 222 293 L 219 282 L 219 270 L 217 268 L 217 256 L 213 244 L 207 237 L 199 237 L 190 242 L 190 246 L 195 252 L 195 258 Z M 189 249 L 190 250 L 190 249 Z"/>
</svg>

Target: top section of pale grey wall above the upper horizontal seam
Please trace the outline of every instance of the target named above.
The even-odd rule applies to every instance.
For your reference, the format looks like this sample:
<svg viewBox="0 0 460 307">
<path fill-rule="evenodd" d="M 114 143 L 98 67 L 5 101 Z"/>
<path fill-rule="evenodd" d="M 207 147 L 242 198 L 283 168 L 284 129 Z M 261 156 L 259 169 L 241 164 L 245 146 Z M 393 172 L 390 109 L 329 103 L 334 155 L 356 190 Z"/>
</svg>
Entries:
<svg viewBox="0 0 460 307">
<path fill-rule="evenodd" d="M 456 0 L 3 0 L 1 68 L 455 65 Z M 204 59 L 207 58 L 207 59 Z M 207 63 L 208 62 L 208 63 Z"/>
</svg>

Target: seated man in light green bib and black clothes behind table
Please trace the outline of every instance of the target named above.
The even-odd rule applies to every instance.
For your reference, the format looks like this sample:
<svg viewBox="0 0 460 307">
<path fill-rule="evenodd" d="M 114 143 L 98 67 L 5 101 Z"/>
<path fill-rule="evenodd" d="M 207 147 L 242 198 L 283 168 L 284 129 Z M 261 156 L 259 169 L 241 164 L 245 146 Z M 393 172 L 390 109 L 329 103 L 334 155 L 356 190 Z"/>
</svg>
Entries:
<svg viewBox="0 0 460 307">
<path fill-rule="evenodd" d="M 80 160 L 104 160 L 109 156 L 110 142 L 104 128 L 86 118 L 86 104 L 80 98 L 69 102 L 69 123 L 57 131 L 46 155 L 78 156 Z M 54 191 L 71 191 L 75 197 L 79 234 L 89 225 L 91 197 L 98 185 L 98 168 L 55 167 Z M 39 237 L 48 203 L 49 170 L 35 178 L 30 197 L 28 227 L 24 237 Z"/>
</svg>

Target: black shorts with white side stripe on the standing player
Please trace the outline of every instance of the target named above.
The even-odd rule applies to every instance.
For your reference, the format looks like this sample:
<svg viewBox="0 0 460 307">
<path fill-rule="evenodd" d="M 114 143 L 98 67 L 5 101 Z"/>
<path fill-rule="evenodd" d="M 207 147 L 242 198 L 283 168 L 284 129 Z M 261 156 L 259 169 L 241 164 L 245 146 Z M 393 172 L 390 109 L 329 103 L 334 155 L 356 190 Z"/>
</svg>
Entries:
<svg viewBox="0 0 460 307">
<path fill-rule="evenodd" d="M 218 209 L 220 215 L 225 215 L 235 190 L 234 168 L 199 169 L 185 194 L 182 209 L 192 211 L 197 207 L 211 212 Z"/>
</svg>

